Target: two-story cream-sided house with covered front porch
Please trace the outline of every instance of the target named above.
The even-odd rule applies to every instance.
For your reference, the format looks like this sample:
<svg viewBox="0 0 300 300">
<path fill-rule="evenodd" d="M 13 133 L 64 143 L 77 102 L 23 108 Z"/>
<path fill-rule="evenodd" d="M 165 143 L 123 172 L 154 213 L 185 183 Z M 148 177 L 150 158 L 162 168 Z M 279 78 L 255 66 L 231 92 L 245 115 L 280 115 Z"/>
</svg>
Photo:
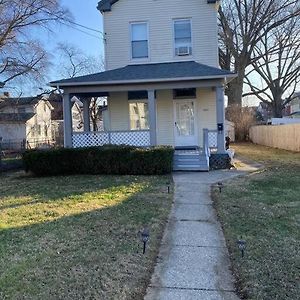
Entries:
<svg viewBox="0 0 300 300">
<path fill-rule="evenodd" d="M 235 75 L 219 68 L 218 3 L 100 1 L 106 71 L 50 83 L 64 90 L 65 146 L 171 145 L 177 170 L 208 170 L 212 147 L 226 158 L 224 86 Z M 72 131 L 73 96 L 84 133 Z M 90 132 L 90 97 L 107 97 L 106 131 Z"/>
</svg>

